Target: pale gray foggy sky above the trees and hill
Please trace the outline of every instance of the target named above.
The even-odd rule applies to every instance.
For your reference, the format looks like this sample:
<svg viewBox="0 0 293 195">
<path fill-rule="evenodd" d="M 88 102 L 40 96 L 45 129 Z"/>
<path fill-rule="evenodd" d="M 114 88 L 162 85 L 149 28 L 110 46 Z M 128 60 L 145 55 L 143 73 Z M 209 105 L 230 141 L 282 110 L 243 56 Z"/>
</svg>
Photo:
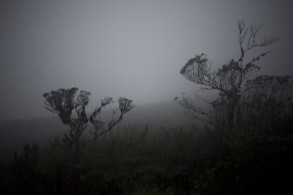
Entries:
<svg viewBox="0 0 293 195">
<path fill-rule="evenodd" d="M 76 86 L 136 105 L 197 86 L 180 75 L 204 52 L 239 57 L 237 21 L 280 35 L 262 73 L 292 74 L 292 1 L 0 1 L 0 119 L 49 114 L 42 93 Z"/>
</svg>

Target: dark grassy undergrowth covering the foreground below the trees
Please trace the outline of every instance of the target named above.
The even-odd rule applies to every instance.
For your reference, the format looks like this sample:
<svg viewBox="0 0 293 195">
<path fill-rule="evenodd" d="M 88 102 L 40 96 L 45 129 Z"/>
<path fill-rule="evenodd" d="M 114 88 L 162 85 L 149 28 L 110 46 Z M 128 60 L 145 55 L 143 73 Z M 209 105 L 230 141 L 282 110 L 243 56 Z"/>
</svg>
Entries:
<svg viewBox="0 0 293 195">
<path fill-rule="evenodd" d="M 58 138 L 47 148 L 31 143 L 1 167 L 1 194 L 291 194 L 291 123 L 229 131 L 125 126 L 79 160 Z"/>
</svg>

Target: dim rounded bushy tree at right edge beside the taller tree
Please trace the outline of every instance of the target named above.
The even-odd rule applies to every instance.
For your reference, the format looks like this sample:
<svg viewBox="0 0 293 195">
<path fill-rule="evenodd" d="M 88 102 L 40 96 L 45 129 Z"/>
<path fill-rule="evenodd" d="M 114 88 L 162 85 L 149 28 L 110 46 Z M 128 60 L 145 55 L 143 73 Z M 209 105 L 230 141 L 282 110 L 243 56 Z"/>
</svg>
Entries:
<svg viewBox="0 0 293 195">
<path fill-rule="evenodd" d="M 291 101 L 293 78 L 291 76 L 261 75 L 245 84 L 249 114 L 258 122 L 274 126 L 277 120 L 292 117 Z"/>
</svg>

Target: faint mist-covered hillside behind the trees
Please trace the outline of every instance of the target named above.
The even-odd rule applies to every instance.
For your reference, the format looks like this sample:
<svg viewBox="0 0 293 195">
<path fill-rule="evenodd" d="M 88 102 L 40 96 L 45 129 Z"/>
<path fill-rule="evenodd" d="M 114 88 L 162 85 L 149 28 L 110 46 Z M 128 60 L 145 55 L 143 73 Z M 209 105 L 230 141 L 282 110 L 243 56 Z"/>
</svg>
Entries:
<svg viewBox="0 0 293 195">
<path fill-rule="evenodd" d="M 107 122 L 115 110 L 106 109 L 101 112 L 101 119 Z M 49 112 L 48 112 L 49 114 Z M 130 125 L 131 128 L 143 129 L 148 124 L 150 131 L 180 128 L 192 125 L 192 121 L 184 116 L 183 108 L 176 102 L 161 102 L 150 105 L 137 105 L 125 114 L 117 128 Z M 64 126 L 56 114 L 50 117 L 35 117 L 32 119 L 15 119 L 0 122 L 0 160 L 6 162 L 13 158 L 14 150 L 21 150 L 26 143 L 38 142 L 41 146 L 47 146 L 49 139 L 63 136 L 68 127 Z M 88 129 L 90 132 L 91 129 Z"/>
</svg>

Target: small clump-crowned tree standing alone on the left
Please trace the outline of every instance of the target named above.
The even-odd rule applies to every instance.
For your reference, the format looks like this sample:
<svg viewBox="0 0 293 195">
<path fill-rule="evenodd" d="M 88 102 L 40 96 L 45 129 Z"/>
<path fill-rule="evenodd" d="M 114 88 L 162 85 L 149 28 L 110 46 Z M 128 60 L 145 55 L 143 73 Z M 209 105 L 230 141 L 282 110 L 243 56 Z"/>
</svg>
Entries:
<svg viewBox="0 0 293 195">
<path fill-rule="evenodd" d="M 103 107 L 112 104 L 113 98 L 106 97 L 100 100 L 100 106 L 89 115 L 86 114 L 86 106 L 89 102 L 91 93 L 84 90 L 78 92 L 78 88 L 52 90 L 50 93 L 44 93 L 45 108 L 50 112 L 58 115 L 63 124 L 70 127 L 69 134 L 64 134 L 63 143 L 69 146 L 69 149 L 74 155 L 80 156 L 84 146 L 95 141 L 99 136 L 102 136 L 107 131 L 113 129 L 123 118 L 124 114 L 130 112 L 134 105 L 132 100 L 127 98 L 119 98 L 118 104 L 120 109 L 120 116 L 116 119 L 115 112 L 108 122 L 108 128 L 104 128 L 103 122 L 96 119 Z M 95 129 L 93 138 L 88 141 L 82 141 L 81 136 L 88 128 L 88 124 L 92 124 Z"/>
</svg>

